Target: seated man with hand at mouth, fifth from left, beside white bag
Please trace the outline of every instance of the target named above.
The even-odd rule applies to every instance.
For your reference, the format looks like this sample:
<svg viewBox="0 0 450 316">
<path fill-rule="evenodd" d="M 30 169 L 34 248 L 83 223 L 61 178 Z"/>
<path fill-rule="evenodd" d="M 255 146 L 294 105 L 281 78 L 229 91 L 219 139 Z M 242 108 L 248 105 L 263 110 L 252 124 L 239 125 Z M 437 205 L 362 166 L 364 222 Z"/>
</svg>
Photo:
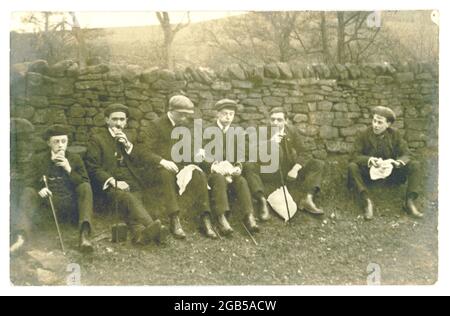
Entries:
<svg viewBox="0 0 450 316">
<path fill-rule="evenodd" d="M 323 169 L 325 163 L 306 159 L 306 153 L 299 131 L 288 124 L 288 117 L 284 108 L 274 108 L 270 114 L 272 127 L 279 130 L 273 141 L 279 144 L 279 168 L 274 173 L 261 173 L 259 166 L 248 168 L 246 178 L 252 194 L 255 197 L 265 194 L 266 187 L 269 192 L 288 187 L 302 188 L 306 197 L 299 201 L 299 209 L 313 215 L 323 215 L 324 212 L 314 203 L 314 197 L 320 192 Z"/>
</svg>

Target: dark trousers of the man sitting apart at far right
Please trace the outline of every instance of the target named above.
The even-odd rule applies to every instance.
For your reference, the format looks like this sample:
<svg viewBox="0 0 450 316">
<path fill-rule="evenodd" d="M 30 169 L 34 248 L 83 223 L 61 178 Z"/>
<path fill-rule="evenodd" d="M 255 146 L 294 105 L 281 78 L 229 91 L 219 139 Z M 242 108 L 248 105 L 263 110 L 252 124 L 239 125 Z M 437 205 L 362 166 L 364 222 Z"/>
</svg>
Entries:
<svg viewBox="0 0 450 316">
<path fill-rule="evenodd" d="M 370 169 L 367 164 L 359 165 L 355 162 L 349 164 L 349 186 L 355 187 L 358 193 L 368 193 L 367 185 L 374 183 L 370 179 Z M 379 181 L 385 181 L 387 184 L 404 184 L 408 183 L 407 197 L 416 199 L 419 196 L 420 185 L 420 163 L 410 161 L 406 166 L 395 168 L 389 178 Z"/>
</svg>

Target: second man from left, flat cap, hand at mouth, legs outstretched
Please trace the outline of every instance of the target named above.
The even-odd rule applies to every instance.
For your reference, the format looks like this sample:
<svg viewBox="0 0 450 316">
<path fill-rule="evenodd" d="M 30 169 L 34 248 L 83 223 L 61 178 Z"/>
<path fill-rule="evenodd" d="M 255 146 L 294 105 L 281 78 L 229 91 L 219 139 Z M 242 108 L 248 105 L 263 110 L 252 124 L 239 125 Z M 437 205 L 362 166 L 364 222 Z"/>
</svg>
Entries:
<svg viewBox="0 0 450 316">
<path fill-rule="evenodd" d="M 128 107 L 112 104 L 105 110 L 106 127 L 95 133 L 88 145 L 86 167 L 96 192 L 103 192 L 110 206 L 117 205 L 136 245 L 160 243 L 161 221 L 154 221 L 143 204 L 145 185 L 140 168 L 145 165 L 136 145 L 126 134 Z"/>
</svg>

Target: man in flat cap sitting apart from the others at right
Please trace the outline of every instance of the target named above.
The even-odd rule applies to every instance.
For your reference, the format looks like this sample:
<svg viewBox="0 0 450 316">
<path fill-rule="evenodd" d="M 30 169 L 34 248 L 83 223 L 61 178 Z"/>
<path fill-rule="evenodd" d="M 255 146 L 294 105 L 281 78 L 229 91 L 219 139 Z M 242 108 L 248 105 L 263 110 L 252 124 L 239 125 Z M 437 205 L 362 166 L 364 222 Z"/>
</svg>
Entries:
<svg viewBox="0 0 450 316">
<path fill-rule="evenodd" d="M 375 107 L 372 126 L 361 132 L 355 142 L 349 165 L 349 184 L 356 188 L 364 202 L 366 220 L 374 216 L 366 184 L 374 181 L 408 182 L 404 209 L 415 218 L 423 217 L 415 205 L 419 196 L 420 165 L 411 158 L 408 144 L 400 132 L 392 127 L 395 120 L 396 115 L 390 108 Z"/>
</svg>

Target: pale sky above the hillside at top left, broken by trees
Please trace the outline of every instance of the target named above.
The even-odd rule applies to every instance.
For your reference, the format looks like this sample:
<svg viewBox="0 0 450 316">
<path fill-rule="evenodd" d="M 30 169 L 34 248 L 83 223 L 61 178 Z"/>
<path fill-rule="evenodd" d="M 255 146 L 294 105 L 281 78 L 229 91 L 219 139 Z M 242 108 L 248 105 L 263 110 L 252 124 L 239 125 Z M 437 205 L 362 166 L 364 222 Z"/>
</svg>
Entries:
<svg viewBox="0 0 450 316">
<path fill-rule="evenodd" d="M 11 14 L 11 30 L 18 32 L 33 32 L 33 26 L 22 23 L 22 17 L 32 12 L 14 12 Z M 245 12 L 191 12 L 191 22 L 201 22 L 213 19 L 239 15 Z M 109 28 L 146 26 L 159 24 L 154 12 L 76 12 L 76 16 L 82 28 Z M 186 12 L 171 12 L 173 23 L 187 21 Z"/>
</svg>

